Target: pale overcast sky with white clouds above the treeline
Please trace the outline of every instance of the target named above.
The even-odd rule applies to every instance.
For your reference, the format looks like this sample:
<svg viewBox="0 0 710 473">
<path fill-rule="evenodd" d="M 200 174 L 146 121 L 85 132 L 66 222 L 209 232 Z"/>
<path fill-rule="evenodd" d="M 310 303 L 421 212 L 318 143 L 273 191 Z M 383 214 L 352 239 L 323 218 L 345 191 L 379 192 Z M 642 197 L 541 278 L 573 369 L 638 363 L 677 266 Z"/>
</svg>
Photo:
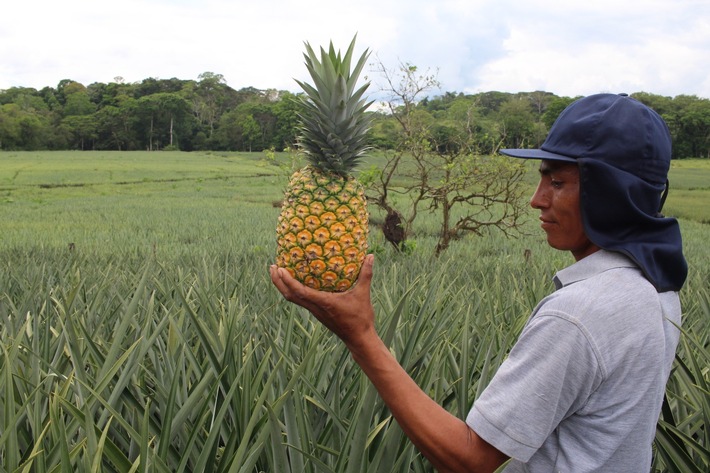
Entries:
<svg viewBox="0 0 710 473">
<path fill-rule="evenodd" d="M 298 91 L 303 42 L 355 33 L 390 69 L 438 70 L 440 92 L 710 98 L 710 0 L 6 0 L 0 89 L 213 72 Z"/>
</svg>

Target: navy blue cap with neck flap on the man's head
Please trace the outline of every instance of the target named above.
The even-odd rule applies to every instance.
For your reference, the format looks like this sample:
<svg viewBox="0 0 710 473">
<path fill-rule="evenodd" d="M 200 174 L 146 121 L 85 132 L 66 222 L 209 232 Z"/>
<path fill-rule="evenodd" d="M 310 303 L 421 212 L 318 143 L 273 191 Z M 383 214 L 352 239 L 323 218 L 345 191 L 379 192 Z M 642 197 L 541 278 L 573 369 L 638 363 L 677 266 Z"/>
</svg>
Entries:
<svg viewBox="0 0 710 473">
<path fill-rule="evenodd" d="M 660 214 L 668 190 L 671 136 L 658 113 L 626 94 L 570 104 L 540 149 L 502 149 L 527 159 L 577 163 L 587 237 L 629 256 L 660 291 L 687 277 L 678 222 Z"/>
</svg>

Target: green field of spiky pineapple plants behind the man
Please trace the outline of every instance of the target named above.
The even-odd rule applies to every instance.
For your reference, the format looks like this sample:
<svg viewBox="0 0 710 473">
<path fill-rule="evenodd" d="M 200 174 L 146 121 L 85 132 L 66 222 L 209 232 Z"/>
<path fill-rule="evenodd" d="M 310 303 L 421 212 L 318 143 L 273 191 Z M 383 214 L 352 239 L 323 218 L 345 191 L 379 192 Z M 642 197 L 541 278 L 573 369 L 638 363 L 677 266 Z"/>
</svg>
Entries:
<svg viewBox="0 0 710 473">
<path fill-rule="evenodd" d="M 290 171 L 260 153 L 0 152 L 0 471 L 432 471 L 269 280 Z M 670 180 L 690 273 L 653 471 L 706 472 L 710 166 Z M 370 208 L 373 302 L 400 363 L 463 417 L 571 256 L 531 209 L 525 236 L 434 258 L 428 218 L 396 252 Z"/>
</svg>

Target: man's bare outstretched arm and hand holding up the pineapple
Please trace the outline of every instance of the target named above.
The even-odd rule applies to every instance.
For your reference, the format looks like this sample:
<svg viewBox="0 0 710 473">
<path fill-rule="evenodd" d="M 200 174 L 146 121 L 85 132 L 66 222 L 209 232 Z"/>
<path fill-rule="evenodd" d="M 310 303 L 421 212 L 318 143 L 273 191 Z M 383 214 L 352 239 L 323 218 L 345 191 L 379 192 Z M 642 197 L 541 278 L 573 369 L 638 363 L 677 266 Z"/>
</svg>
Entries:
<svg viewBox="0 0 710 473">
<path fill-rule="evenodd" d="M 507 456 L 427 396 L 377 334 L 370 301 L 373 259 L 367 256 L 358 283 L 340 294 L 305 287 L 275 266 L 270 273 L 288 301 L 308 309 L 345 343 L 404 433 L 437 470 L 494 471 Z"/>
</svg>

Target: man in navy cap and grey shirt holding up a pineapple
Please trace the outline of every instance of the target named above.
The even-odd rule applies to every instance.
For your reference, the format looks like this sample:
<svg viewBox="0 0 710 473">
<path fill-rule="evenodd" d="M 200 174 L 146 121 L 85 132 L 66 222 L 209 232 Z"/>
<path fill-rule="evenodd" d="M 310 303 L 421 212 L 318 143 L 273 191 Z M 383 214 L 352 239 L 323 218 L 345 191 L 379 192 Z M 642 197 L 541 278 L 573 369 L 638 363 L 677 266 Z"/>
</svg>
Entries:
<svg viewBox="0 0 710 473">
<path fill-rule="evenodd" d="M 548 243 L 575 263 L 534 309 L 465 421 L 422 392 L 377 335 L 373 257 L 343 294 L 272 266 L 284 297 L 347 346 L 398 423 L 440 471 L 648 472 L 675 348 L 687 267 L 660 209 L 671 142 L 658 114 L 625 95 L 574 102 L 541 149 L 531 205 Z"/>
</svg>

